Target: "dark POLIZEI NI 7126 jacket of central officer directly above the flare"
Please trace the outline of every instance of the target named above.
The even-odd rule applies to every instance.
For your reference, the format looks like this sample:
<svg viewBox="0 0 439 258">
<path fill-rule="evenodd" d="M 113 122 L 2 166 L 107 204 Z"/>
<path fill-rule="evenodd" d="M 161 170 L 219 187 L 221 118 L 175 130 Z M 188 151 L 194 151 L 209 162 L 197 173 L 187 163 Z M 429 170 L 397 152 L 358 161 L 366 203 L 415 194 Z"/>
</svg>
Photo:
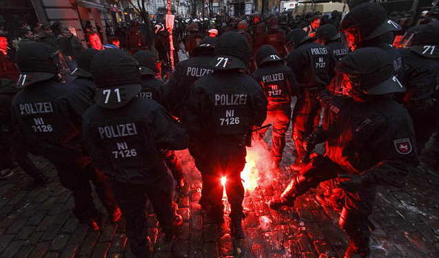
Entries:
<svg viewBox="0 0 439 258">
<path fill-rule="evenodd" d="M 254 125 L 262 125 L 267 104 L 256 80 L 238 71 L 218 71 L 196 80 L 181 120 L 195 142 L 222 137 L 238 141 Z"/>
</svg>

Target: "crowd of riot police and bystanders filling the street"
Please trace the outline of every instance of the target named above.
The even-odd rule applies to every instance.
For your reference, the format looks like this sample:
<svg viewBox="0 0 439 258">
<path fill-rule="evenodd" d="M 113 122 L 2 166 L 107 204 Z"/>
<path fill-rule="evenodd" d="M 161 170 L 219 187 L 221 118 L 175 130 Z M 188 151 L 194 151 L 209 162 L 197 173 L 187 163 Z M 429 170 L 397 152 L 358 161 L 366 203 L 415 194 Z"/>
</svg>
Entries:
<svg viewBox="0 0 439 258">
<path fill-rule="evenodd" d="M 160 23 L 153 46 L 134 22 L 124 37 L 108 35 L 107 45 L 88 31 L 86 50 L 60 24 L 41 25 L 37 40 L 24 24 L 13 59 L 0 34 L 1 178 L 20 167 L 33 178 L 26 189 L 45 186 L 48 178 L 28 153 L 47 158 L 72 191 L 76 218 L 98 230 L 92 181 L 110 220 L 125 217 L 134 255 L 147 257 L 146 198 L 163 241 L 172 241 L 182 223 L 173 182 L 176 190 L 186 182 L 174 151 L 189 149 L 203 180 L 203 213 L 220 226 L 227 178 L 232 236 L 242 239 L 246 147 L 272 125 L 277 171 L 292 124 L 298 172 L 269 207 L 294 206 L 325 185 L 317 200 L 340 211 L 350 240 L 345 258 L 368 257 L 376 186 L 401 186 L 418 160 L 436 166 L 437 150 L 425 148 L 439 128 L 435 15 L 415 24 L 363 3 L 343 19 L 334 11 L 179 25 L 167 83 L 159 63 L 170 61 L 169 34 Z M 392 46 L 397 34 L 400 49 Z M 68 82 L 63 61 L 74 78 Z M 320 143 L 325 153 L 314 153 Z"/>
</svg>

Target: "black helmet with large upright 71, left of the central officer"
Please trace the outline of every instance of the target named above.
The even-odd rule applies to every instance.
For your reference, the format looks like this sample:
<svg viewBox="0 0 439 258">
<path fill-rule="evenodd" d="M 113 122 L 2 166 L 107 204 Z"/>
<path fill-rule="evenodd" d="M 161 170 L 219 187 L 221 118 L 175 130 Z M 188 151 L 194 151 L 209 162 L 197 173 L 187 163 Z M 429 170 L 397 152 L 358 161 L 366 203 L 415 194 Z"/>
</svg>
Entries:
<svg viewBox="0 0 439 258">
<path fill-rule="evenodd" d="M 122 107 L 142 90 L 139 63 L 122 50 L 112 48 L 96 54 L 92 75 L 97 87 L 94 101 L 101 107 Z"/>
</svg>

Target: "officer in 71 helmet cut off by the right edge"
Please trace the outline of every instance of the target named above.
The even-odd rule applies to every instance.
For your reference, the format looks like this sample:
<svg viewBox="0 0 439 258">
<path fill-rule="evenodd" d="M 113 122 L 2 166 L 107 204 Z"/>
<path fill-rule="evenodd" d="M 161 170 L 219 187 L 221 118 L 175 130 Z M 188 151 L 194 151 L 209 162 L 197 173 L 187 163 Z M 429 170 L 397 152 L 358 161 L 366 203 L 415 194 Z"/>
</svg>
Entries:
<svg viewBox="0 0 439 258">
<path fill-rule="evenodd" d="M 413 120 L 420 153 L 438 129 L 439 22 L 411 28 L 403 42 L 403 48 L 398 50 L 406 65 L 402 84 L 407 87 L 407 92 L 402 101 Z M 425 154 L 427 152 L 430 151 L 426 149 Z M 431 163 L 425 155 L 421 155 L 420 160 Z"/>
</svg>

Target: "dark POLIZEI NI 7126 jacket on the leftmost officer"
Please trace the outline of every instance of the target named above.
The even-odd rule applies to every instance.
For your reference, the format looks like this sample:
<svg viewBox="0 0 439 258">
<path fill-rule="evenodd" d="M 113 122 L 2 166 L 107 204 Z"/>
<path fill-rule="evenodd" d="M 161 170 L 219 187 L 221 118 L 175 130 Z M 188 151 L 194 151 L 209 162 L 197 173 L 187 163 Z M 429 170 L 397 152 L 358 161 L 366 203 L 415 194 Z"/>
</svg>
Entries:
<svg viewBox="0 0 439 258">
<path fill-rule="evenodd" d="M 49 159 L 81 152 L 81 117 L 92 103 L 54 78 L 25 87 L 12 100 L 12 116 L 32 153 Z"/>
</svg>

